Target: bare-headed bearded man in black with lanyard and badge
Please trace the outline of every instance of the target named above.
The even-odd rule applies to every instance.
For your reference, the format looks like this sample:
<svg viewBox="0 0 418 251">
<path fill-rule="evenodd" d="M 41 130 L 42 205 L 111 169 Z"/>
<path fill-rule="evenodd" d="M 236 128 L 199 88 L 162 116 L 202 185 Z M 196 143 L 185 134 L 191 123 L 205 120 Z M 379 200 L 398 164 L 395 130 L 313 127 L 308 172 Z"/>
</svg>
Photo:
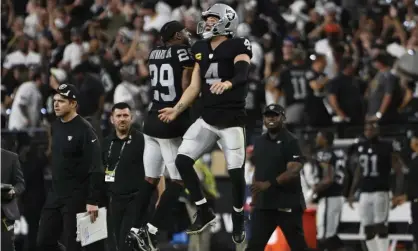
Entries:
<svg viewBox="0 0 418 251">
<path fill-rule="evenodd" d="M 144 135 L 132 128 L 131 107 L 117 103 L 112 107 L 115 130 L 105 138 L 103 164 L 110 197 L 110 220 L 119 251 L 128 251 L 125 236 L 136 217 L 135 197 L 144 179 Z"/>
</svg>

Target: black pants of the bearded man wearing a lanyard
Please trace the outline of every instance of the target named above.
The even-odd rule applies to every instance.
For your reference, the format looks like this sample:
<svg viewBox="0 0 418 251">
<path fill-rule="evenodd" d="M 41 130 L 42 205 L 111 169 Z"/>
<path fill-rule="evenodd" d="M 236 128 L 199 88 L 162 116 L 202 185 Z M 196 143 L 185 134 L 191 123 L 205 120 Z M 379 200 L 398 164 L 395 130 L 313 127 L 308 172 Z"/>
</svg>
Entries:
<svg viewBox="0 0 418 251">
<path fill-rule="evenodd" d="M 110 220 L 112 221 L 112 232 L 119 251 L 130 251 L 125 239 L 135 222 L 135 197 L 136 193 L 123 197 L 110 197 Z"/>
</svg>

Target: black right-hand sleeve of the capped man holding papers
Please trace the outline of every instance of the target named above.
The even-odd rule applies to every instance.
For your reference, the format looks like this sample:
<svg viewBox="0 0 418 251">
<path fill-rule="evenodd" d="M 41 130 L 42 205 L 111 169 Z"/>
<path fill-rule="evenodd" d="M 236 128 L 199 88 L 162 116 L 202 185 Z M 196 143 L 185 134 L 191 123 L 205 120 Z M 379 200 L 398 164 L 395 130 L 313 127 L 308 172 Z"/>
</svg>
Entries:
<svg viewBox="0 0 418 251">
<path fill-rule="evenodd" d="M 103 189 L 104 170 L 99 140 L 92 128 L 88 128 L 84 135 L 84 169 L 88 170 L 89 194 L 87 204 L 97 205 Z"/>
</svg>

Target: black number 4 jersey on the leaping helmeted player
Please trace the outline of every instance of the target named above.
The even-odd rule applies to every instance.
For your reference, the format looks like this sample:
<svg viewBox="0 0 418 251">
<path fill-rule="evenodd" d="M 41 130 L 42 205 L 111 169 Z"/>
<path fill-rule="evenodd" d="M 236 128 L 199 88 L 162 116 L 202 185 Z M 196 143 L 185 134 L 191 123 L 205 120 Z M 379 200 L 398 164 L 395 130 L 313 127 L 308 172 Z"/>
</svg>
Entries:
<svg viewBox="0 0 418 251">
<path fill-rule="evenodd" d="M 243 126 L 248 86 L 234 86 L 221 95 L 212 94 L 210 86 L 234 77 L 234 59 L 240 54 L 251 58 L 251 42 L 246 38 L 231 38 L 213 50 L 210 40 L 201 40 L 192 46 L 192 53 L 200 66 L 203 120 L 218 127 Z"/>
</svg>

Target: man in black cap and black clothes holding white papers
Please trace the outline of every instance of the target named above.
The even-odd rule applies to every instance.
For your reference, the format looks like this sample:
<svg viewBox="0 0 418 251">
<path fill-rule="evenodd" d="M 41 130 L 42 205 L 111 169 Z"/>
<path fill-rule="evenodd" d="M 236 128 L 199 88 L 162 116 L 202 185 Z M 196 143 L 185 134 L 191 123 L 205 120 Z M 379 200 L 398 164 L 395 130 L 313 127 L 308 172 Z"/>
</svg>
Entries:
<svg viewBox="0 0 418 251">
<path fill-rule="evenodd" d="M 52 188 L 42 209 L 37 247 L 39 251 L 80 251 L 76 241 L 76 214 L 88 212 L 94 222 L 103 189 L 100 144 L 92 126 L 77 114 L 78 90 L 62 84 L 54 95 L 58 117 L 51 126 Z M 84 250 L 103 250 L 96 242 Z"/>
</svg>

